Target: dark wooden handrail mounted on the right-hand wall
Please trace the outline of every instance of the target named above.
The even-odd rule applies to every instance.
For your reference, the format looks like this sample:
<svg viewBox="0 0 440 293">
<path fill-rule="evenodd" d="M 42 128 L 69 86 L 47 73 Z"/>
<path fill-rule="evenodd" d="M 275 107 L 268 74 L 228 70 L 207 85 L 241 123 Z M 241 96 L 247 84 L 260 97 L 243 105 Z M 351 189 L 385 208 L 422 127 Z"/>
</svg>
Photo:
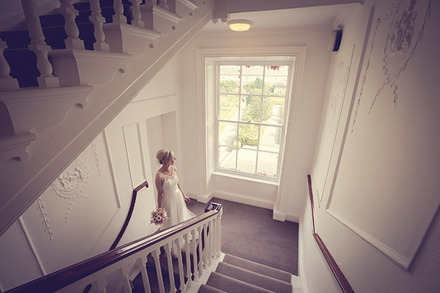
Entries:
<svg viewBox="0 0 440 293">
<path fill-rule="evenodd" d="M 310 205 L 312 206 L 312 235 L 317 241 L 317 244 L 319 246 L 319 249 L 321 250 L 322 254 L 324 255 L 324 258 L 326 259 L 327 263 L 329 264 L 329 267 L 331 269 L 331 272 L 333 272 L 334 277 L 336 277 L 336 281 L 338 281 L 339 287 L 341 287 L 342 292 L 344 293 L 354 293 L 353 288 L 351 287 L 351 284 L 348 282 L 345 275 L 343 275 L 343 272 L 339 265 L 336 263 L 336 260 L 334 260 L 333 255 L 331 255 L 329 249 L 327 249 L 326 245 L 324 244 L 324 241 L 322 241 L 321 237 L 319 237 L 316 227 L 315 227 L 315 221 L 314 221 L 314 200 L 313 200 L 313 189 L 312 189 L 312 178 L 310 175 L 307 175 L 307 181 L 309 183 L 309 198 L 310 198 Z"/>
</svg>

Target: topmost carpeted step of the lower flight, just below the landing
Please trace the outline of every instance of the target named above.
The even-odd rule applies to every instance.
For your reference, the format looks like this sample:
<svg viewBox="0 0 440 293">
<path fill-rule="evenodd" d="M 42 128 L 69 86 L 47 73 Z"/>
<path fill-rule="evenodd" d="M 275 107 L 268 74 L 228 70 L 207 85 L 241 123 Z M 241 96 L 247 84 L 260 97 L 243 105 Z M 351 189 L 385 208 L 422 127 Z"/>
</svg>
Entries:
<svg viewBox="0 0 440 293">
<path fill-rule="evenodd" d="M 275 269 L 275 267 L 269 267 L 268 265 L 262 265 L 258 262 L 253 262 L 251 260 L 245 260 L 244 258 L 238 258 L 238 256 L 226 254 L 224 256 L 223 262 L 229 263 L 229 265 L 235 265 L 236 267 L 241 267 L 251 272 L 256 272 L 260 275 L 265 275 L 268 277 L 273 277 L 277 280 L 290 283 L 292 275 L 289 272 L 283 270 Z"/>
</svg>

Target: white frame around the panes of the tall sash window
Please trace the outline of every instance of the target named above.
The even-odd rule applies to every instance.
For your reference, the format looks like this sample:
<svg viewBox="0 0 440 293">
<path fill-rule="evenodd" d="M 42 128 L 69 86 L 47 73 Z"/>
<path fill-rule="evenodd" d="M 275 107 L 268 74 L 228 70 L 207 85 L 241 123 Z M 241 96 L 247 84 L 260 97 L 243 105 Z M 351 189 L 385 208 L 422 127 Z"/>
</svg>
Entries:
<svg viewBox="0 0 440 293">
<path fill-rule="evenodd" d="M 293 112 L 293 104 L 295 104 L 295 96 L 299 95 L 299 84 L 302 80 L 302 71 L 304 68 L 304 59 L 305 59 L 305 47 L 275 47 L 275 48 L 221 48 L 221 49 L 199 49 L 197 50 L 197 68 L 198 68 L 198 96 L 199 96 L 199 105 L 201 105 L 201 114 L 199 116 L 200 125 L 203 126 L 203 131 L 200 132 L 201 140 L 200 149 L 203 150 L 204 157 L 201 160 L 201 165 L 199 166 L 201 170 L 205 170 L 202 172 L 202 192 L 207 192 L 209 189 L 209 179 L 212 174 L 229 174 L 234 177 L 253 177 L 255 179 L 267 181 L 267 182 L 280 182 L 282 179 L 282 170 L 284 169 L 283 160 L 285 157 L 285 149 L 289 139 L 289 131 L 291 128 L 290 124 L 292 123 L 292 114 Z M 290 84 L 290 89 L 287 89 L 288 94 L 286 94 L 286 102 L 285 102 L 285 118 L 283 119 L 284 124 L 282 126 L 282 145 L 280 145 L 280 153 L 279 153 L 279 163 L 277 169 L 277 177 L 268 177 L 265 175 L 251 175 L 244 172 L 238 172 L 235 170 L 224 170 L 217 168 L 217 154 L 216 149 L 210 150 L 209 148 L 217 148 L 218 145 L 218 133 L 214 131 L 216 135 L 214 136 L 215 140 L 209 135 L 209 128 L 211 128 L 211 132 L 216 127 L 216 125 L 212 124 L 216 119 L 213 117 L 208 117 L 208 113 L 213 113 L 214 115 L 217 113 L 216 108 L 218 105 L 215 103 L 215 109 L 207 109 L 207 89 L 205 89 L 205 60 L 206 58 L 215 58 L 215 57 L 277 57 L 277 56 L 286 56 L 286 57 L 295 57 L 295 62 L 290 69 L 290 78 L 293 74 L 293 81 Z M 219 91 L 219 89 L 215 89 Z M 218 92 L 217 92 L 218 93 Z M 214 157 L 212 157 L 214 156 Z"/>
</svg>

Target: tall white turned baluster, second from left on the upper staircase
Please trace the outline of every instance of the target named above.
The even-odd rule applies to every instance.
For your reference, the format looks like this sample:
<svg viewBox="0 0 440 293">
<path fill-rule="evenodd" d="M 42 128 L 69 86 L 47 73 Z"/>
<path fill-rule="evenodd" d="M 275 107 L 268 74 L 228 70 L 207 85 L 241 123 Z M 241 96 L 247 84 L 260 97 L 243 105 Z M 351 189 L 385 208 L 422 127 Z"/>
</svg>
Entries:
<svg viewBox="0 0 440 293">
<path fill-rule="evenodd" d="M 37 77 L 38 85 L 40 87 L 60 87 L 58 78 L 52 74 L 53 67 L 48 58 L 48 53 L 52 49 L 45 42 L 35 0 L 21 0 L 21 6 L 23 6 L 23 13 L 31 38 L 31 44 L 28 45 L 28 48 L 37 56 L 37 68 L 40 72 L 40 77 Z"/>
</svg>

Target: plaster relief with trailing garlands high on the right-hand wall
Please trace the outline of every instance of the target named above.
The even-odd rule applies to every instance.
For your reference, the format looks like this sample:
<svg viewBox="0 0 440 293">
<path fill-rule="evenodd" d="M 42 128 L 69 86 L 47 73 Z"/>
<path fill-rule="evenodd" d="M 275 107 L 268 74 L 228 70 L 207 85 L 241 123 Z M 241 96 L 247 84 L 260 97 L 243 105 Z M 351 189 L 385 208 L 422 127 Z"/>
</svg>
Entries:
<svg viewBox="0 0 440 293">
<path fill-rule="evenodd" d="M 387 10 L 387 12 L 376 19 L 375 31 L 371 40 L 370 50 L 368 52 L 368 60 L 365 65 L 365 72 L 359 91 L 359 98 L 356 104 L 355 116 L 351 132 L 353 132 L 358 116 L 361 101 L 366 99 L 363 97 L 363 89 L 368 77 L 375 80 L 380 72 L 370 72 L 370 64 L 374 59 L 382 57 L 383 60 L 383 79 L 380 84 L 372 84 L 373 81 L 368 80 L 368 86 L 377 87 L 378 90 L 370 104 L 370 113 L 373 110 L 375 101 L 382 93 L 385 87 L 392 89 L 393 104 L 397 105 L 397 79 L 400 74 L 405 71 L 407 65 L 412 60 L 414 52 L 417 49 L 423 37 L 425 24 L 431 13 L 431 0 L 397 0 Z M 386 33 L 386 38 L 376 38 L 378 35 Z M 375 49 L 376 47 L 376 49 Z M 370 72 L 370 74 L 368 74 Z"/>
</svg>

